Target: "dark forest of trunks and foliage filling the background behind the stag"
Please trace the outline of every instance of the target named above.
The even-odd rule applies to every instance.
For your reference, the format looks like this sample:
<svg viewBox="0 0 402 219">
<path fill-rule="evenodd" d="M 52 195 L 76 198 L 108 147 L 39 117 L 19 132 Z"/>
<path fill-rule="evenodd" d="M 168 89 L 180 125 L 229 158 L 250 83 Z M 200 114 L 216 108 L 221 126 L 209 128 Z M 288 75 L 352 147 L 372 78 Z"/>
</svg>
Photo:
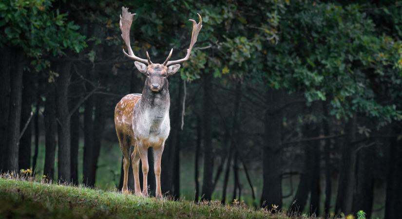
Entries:
<svg viewBox="0 0 402 219">
<path fill-rule="evenodd" d="M 398 0 L 2 0 L 2 173 L 122 189 L 115 106 L 147 89 L 122 52 L 122 6 L 132 50 L 153 63 L 184 57 L 189 19 L 203 20 L 168 78 L 165 197 L 401 218 Z"/>
</svg>

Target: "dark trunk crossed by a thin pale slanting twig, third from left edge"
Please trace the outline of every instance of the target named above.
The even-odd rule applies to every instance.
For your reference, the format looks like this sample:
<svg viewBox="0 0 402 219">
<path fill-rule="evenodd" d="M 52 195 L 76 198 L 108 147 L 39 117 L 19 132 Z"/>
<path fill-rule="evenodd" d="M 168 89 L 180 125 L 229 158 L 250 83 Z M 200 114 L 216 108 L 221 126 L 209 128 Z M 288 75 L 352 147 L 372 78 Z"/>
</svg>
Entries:
<svg viewBox="0 0 402 219">
<path fill-rule="evenodd" d="M 22 79 L 22 106 L 21 106 L 21 124 L 20 131 L 28 123 L 31 118 L 32 112 L 32 102 L 33 102 L 33 86 L 34 75 L 32 73 L 24 73 L 24 78 Z M 32 131 L 31 131 L 31 121 L 29 121 L 28 127 L 22 134 L 21 140 L 19 141 L 19 155 L 18 163 L 19 169 L 28 169 L 31 167 L 31 143 L 32 143 Z"/>
</svg>

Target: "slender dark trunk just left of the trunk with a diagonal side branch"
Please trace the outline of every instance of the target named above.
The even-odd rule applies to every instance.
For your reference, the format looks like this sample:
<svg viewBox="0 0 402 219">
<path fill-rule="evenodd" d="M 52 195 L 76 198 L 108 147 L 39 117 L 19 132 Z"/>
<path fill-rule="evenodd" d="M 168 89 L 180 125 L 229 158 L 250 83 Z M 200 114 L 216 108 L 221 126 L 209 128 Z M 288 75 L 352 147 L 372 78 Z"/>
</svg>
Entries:
<svg viewBox="0 0 402 219">
<path fill-rule="evenodd" d="M 45 110 L 43 113 L 45 124 L 45 164 L 43 175 L 48 180 L 55 177 L 55 155 L 56 155 L 56 84 L 49 83 L 46 79 L 45 84 Z"/>
</svg>

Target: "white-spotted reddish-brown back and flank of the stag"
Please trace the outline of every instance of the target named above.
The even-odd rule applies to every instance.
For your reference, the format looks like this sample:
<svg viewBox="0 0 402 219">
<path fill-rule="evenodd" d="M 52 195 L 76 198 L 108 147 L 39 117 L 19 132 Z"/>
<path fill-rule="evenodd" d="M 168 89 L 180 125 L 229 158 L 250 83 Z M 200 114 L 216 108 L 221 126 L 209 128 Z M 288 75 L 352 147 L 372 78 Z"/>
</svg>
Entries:
<svg viewBox="0 0 402 219">
<path fill-rule="evenodd" d="M 135 104 L 141 99 L 141 94 L 125 95 L 115 107 L 116 131 L 133 137 L 133 113 Z"/>
</svg>

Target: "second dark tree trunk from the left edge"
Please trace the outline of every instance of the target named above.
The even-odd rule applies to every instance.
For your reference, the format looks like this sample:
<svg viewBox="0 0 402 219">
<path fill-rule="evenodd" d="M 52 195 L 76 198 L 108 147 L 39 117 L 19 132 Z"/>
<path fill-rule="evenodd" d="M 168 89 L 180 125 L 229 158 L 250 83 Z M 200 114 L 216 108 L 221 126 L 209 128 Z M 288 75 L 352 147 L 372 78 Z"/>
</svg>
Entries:
<svg viewBox="0 0 402 219">
<path fill-rule="evenodd" d="M 7 135 L 7 170 L 18 174 L 18 154 L 19 154 L 19 128 L 21 122 L 21 102 L 22 102 L 22 74 L 24 70 L 24 57 L 18 52 L 13 52 L 11 66 L 10 83 L 10 110 L 8 115 L 8 135 Z"/>
</svg>

